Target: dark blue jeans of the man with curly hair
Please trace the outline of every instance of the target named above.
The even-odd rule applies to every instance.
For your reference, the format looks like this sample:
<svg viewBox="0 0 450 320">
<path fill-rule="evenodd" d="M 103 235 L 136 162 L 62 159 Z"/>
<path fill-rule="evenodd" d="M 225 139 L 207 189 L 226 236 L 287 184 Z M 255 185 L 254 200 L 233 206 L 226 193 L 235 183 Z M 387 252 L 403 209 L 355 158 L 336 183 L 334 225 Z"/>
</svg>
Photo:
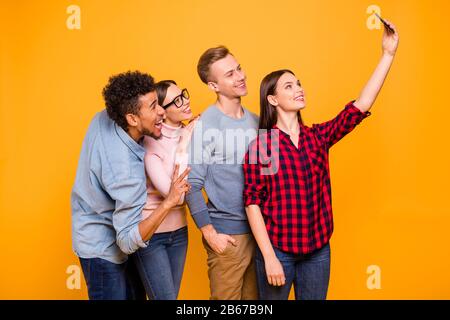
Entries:
<svg viewBox="0 0 450 320">
<path fill-rule="evenodd" d="M 79 259 L 90 300 L 145 300 L 132 259 L 122 264 L 100 258 Z"/>
</svg>

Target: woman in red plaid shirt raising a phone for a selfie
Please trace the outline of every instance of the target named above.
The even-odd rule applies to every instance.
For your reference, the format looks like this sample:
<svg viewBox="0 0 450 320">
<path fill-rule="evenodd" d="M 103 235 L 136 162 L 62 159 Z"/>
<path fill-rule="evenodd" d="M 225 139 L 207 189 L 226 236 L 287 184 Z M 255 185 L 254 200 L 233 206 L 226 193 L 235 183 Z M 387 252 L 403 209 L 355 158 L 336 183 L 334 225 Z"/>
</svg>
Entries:
<svg viewBox="0 0 450 320">
<path fill-rule="evenodd" d="M 383 54 L 359 98 L 334 119 L 308 127 L 305 92 L 290 70 L 268 74 L 260 87 L 259 129 L 244 163 L 244 200 L 258 244 L 261 299 L 326 299 L 333 232 L 328 151 L 364 118 L 381 90 L 398 46 L 390 24 Z"/>
</svg>

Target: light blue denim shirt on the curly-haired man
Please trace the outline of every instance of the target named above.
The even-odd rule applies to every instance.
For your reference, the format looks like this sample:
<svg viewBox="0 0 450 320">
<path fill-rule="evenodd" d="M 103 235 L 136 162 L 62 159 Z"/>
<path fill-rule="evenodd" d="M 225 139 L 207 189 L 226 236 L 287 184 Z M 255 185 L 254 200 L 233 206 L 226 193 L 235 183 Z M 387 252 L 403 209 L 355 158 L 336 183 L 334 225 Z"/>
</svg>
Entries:
<svg viewBox="0 0 450 320">
<path fill-rule="evenodd" d="M 123 263 L 146 247 L 138 230 L 147 200 L 145 149 L 106 110 L 84 138 L 72 189 L 72 241 L 81 258 Z"/>
</svg>

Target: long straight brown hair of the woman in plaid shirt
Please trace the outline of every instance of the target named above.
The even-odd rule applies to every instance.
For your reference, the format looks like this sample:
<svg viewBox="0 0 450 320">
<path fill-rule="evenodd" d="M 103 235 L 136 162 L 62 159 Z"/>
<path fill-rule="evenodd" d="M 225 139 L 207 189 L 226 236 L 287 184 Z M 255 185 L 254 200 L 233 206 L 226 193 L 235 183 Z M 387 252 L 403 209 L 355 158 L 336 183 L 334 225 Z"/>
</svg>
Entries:
<svg viewBox="0 0 450 320">
<path fill-rule="evenodd" d="M 278 112 L 275 106 L 271 105 L 267 100 L 267 97 L 275 94 L 277 89 L 278 80 L 285 73 L 290 73 L 293 76 L 295 74 L 288 69 L 277 70 L 269 73 L 261 81 L 261 86 L 259 87 L 259 129 L 270 130 L 277 123 Z M 303 124 L 302 116 L 300 110 L 297 113 L 298 120 Z"/>
</svg>

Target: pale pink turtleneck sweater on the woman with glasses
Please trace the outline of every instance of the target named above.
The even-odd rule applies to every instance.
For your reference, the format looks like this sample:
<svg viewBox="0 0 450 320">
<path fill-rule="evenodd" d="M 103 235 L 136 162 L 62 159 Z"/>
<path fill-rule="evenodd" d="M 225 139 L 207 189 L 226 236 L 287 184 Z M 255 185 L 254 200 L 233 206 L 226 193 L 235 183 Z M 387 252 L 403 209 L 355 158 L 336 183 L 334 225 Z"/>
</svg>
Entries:
<svg viewBox="0 0 450 320">
<path fill-rule="evenodd" d="M 147 204 L 142 211 L 142 218 L 150 216 L 167 197 L 172 183 L 175 163 L 180 164 L 181 174 L 187 167 L 187 154 L 178 153 L 177 147 L 183 127 L 171 127 L 162 124 L 161 138 L 144 138 L 145 172 L 147 174 Z M 156 233 L 175 231 L 187 225 L 184 197 L 178 205 L 167 214 Z"/>
</svg>

